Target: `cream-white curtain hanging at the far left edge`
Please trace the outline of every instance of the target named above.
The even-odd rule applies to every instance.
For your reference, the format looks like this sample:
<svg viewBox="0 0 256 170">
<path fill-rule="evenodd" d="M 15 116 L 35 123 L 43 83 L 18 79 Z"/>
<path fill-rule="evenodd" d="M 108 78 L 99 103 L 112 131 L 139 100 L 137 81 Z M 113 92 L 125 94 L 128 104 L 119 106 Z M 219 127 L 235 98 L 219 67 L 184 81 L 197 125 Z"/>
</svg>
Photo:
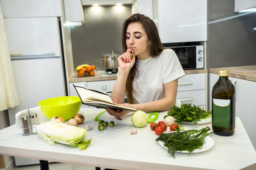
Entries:
<svg viewBox="0 0 256 170">
<path fill-rule="evenodd" d="M 19 105 L 0 2 L 0 111 Z"/>
</svg>

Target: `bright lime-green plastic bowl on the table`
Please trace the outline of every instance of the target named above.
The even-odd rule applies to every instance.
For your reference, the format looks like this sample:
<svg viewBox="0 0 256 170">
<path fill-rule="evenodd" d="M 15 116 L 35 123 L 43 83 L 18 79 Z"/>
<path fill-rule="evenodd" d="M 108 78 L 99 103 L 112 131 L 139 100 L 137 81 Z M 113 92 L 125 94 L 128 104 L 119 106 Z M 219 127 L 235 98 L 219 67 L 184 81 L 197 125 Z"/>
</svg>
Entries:
<svg viewBox="0 0 256 170">
<path fill-rule="evenodd" d="M 42 100 L 38 105 L 49 119 L 59 116 L 69 120 L 79 112 L 82 102 L 77 96 L 63 96 Z"/>
</svg>

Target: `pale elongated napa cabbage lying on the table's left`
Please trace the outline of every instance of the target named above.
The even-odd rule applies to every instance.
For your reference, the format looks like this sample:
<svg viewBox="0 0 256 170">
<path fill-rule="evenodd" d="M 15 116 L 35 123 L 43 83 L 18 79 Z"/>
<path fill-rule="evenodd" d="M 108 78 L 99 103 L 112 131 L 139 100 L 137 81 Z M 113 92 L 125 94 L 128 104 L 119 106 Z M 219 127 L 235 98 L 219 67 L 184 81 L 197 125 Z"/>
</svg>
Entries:
<svg viewBox="0 0 256 170">
<path fill-rule="evenodd" d="M 44 142 L 50 145 L 62 143 L 71 146 L 78 146 L 85 150 L 90 144 L 91 139 L 82 141 L 87 130 L 76 126 L 68 125 L 62 122 L 49 121 L 36 126 L 38 135 L 44 139 Z"/>
</svg>

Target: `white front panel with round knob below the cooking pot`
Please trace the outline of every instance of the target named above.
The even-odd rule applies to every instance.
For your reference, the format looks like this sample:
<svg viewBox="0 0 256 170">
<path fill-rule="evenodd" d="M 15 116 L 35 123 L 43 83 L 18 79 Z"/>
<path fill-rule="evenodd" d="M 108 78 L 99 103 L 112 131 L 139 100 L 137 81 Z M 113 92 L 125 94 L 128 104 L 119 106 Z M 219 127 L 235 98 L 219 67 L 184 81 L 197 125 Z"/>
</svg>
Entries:
<svg viewBox="0 0 256 170">
<path fill-rule="evenodd" d="M 87 82 L 87 87 L 104 92 L 112 92 L 116 80 L 92 81 Z"/>
</svg>

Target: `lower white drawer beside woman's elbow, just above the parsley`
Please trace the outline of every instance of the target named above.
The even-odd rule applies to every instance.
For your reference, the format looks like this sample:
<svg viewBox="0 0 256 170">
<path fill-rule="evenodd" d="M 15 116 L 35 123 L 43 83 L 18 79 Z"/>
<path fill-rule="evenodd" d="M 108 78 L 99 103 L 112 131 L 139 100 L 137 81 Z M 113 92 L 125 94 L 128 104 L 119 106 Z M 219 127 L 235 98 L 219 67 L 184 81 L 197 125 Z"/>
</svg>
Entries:
<svg viewBox="0 0 256 170">
<path fill-rule="evenodd" d="M 182 103 L 191 103 L 197 106 L 205 105 L 205 90 L 177 92 L 176 98 Z"/>
</svg>

